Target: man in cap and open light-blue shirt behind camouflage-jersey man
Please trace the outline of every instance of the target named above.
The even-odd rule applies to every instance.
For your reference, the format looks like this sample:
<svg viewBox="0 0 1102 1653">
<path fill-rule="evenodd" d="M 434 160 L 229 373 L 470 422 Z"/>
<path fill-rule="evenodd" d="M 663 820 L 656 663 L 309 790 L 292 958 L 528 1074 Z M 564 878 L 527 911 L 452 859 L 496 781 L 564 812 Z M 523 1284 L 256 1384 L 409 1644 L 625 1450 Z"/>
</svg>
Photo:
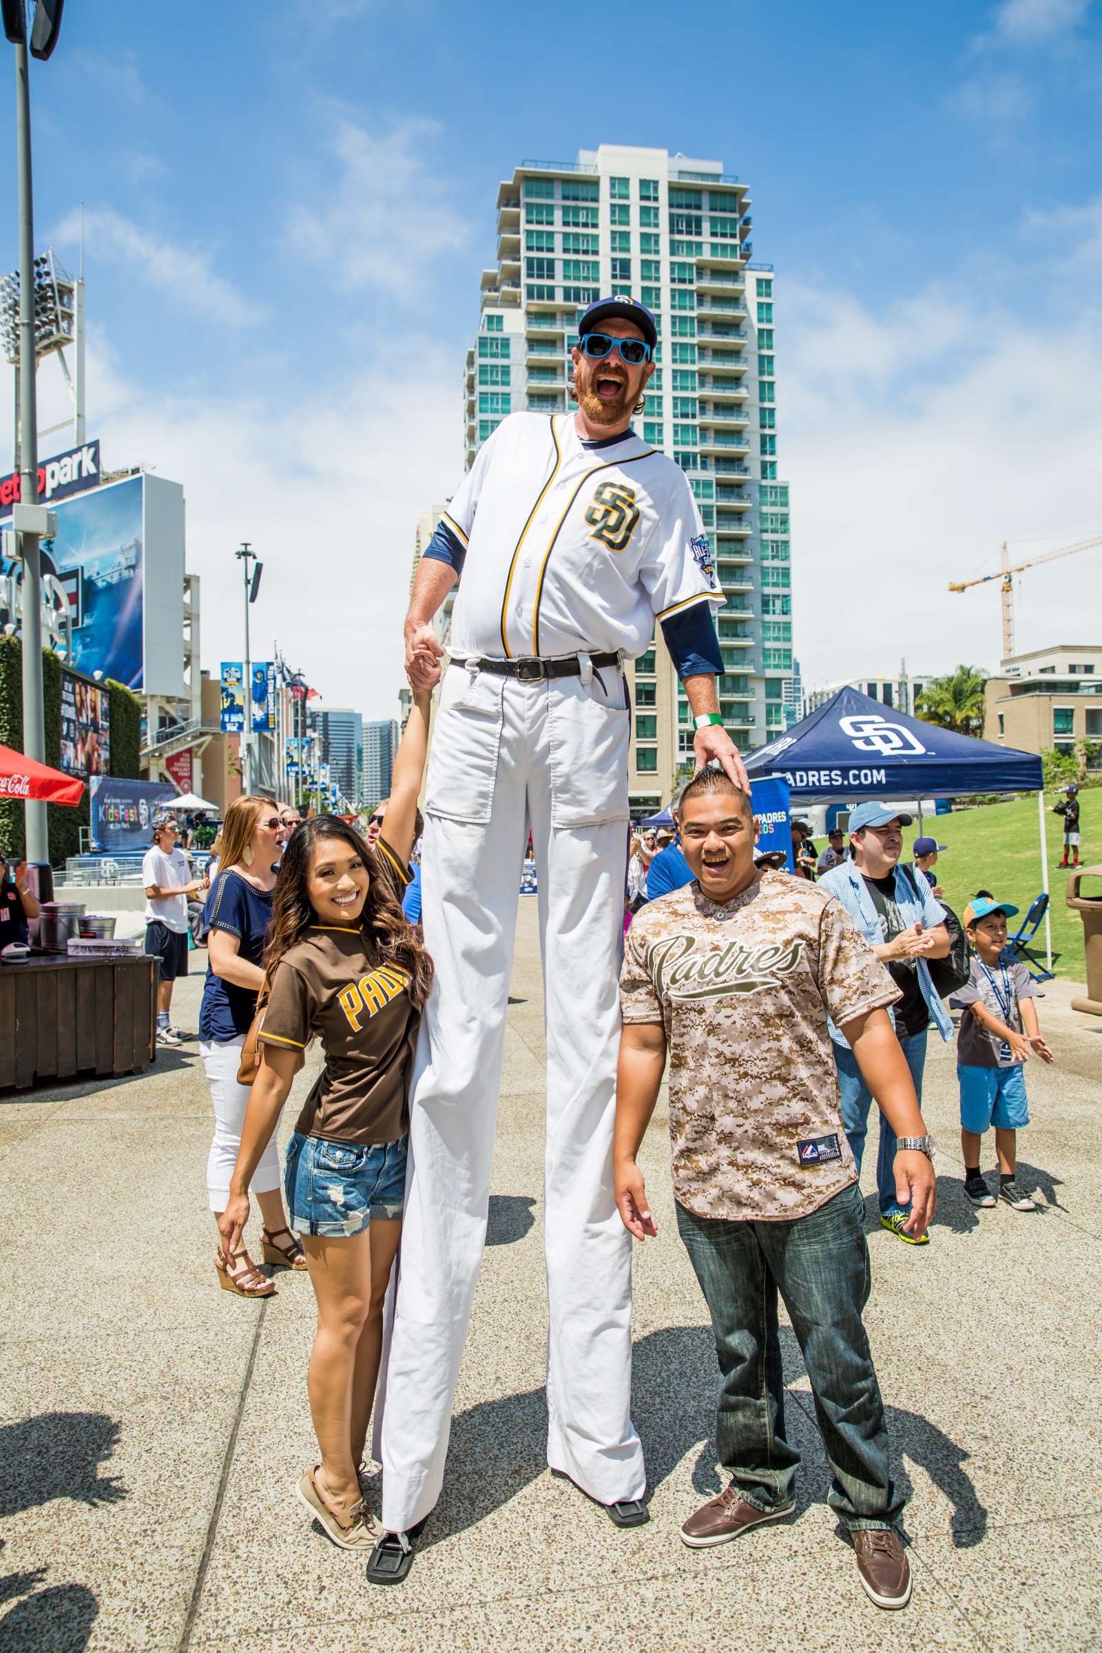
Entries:
<svg viewBox="0 0 1102 1653">
<path fill-rule="evenodd" d="M 853 861 L 844 861 L 824 873 L 819 883 L 838 896 L 849 917 L 902 992 L 894 1007 L 895 1038 L 907 1058 L 919 1106 L 922 1106 L 922 1069 L 925 1066 L 925 1036 L 930 1020 L 943 1040 L 952 1038 L 953 1023 L 938 998 L 927 959 L 943 959 L 950 941 L 945 929 L 945 909 L 935 901 L 925 878 L 912 878 L 899 866 L 904 848 L 904 826 L 912 817 L 902 815 L 892 803 L 871 800 L 859 803 L 849 815 L 849 846 Z M 861 1069 L 839 1028 L 831 1022 L 834 1041 L 834 1066 L 843 1101 L 843 1124 L 861 1172 L 864 1139 L 869 1129 L 872 1093 L 861 1078 Z M 909 1235 L 909 1212 L 895 1198 L 895 1132 L 881 1114 L 881 1146 L 876 1162 L 876 1184 L 881 1203 L 881 1223 L 899 1235 L 905 1245 L 929 1245 L 929 1235 Z"/>
</svg>

